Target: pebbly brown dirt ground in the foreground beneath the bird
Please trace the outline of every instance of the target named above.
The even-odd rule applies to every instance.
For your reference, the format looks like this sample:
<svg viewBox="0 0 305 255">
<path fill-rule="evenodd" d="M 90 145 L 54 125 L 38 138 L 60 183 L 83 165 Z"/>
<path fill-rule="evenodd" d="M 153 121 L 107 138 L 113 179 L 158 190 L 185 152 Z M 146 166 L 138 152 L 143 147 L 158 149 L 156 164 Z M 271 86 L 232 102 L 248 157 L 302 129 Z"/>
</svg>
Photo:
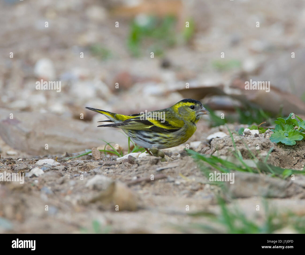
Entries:
<svg viewBox="0 0 305 255">
<path fill-rule="evenodd" d="M 215 129 L 219 131 L 223 127 L 214 128 L 210 133 Z M 298 142 L 292 151 L 271 143 L 268 136 L 270 133 L 259 137 L 234 134 L 234 140 L 245 159 L 248 154 L 243 150 L 244 143 L 261 156 L 274 147 L 268 163 L 301 170 L 305 162 L 304 142 Z M 207 141 L 193 149 L 201 151 L 206 144 Z M 261 144 L 260 150 L 256 144 Z M 208 233 L 198 228 L 204 225 L 225 233 L 225 226 L 209 217 L 194 217 L 198 213 L 221 215 L 217 196 L 222 191 L 210 185 L 183 147 L 163 150 L 168 156 L 165 162 L 161 162 L 161 157 L 149 155 L 122 160 L 114 156 L 94 160 L 87 155 L 66 161 L 65 157 L 59 157 L 58 162 L 51 160 L 44 165 L 40 165 L 39 158 L 1 158 L 2 172 L 25 173 L 24 184 L 2 182 L 0 186 L 0 217 L 2 221 L 5 219 L 0 225 L 1 232 Z M 229 158 L 233 148 L 231 137 L 213 139 L 210 148 L 206 153 Z M 39 176 L 30 176 L 31 170 L 38 166 L 42 169 Z M 235 183 L 228 187 L 231 194 L 226 198 L 228 207 L 238 206 L 257 224 L 262 224 L 266 217 L 263 209 L 256 210 L 257 205 L 264 207 L 262 197 L 267 199 L 269 207 L 283 215 L 305 213 L 305 177 L 302 175 L 292 181 L 265 173 L 235 172 Z M 296 232 L 293 228 L 278 230 L 281 231 Z"/>
</svg>

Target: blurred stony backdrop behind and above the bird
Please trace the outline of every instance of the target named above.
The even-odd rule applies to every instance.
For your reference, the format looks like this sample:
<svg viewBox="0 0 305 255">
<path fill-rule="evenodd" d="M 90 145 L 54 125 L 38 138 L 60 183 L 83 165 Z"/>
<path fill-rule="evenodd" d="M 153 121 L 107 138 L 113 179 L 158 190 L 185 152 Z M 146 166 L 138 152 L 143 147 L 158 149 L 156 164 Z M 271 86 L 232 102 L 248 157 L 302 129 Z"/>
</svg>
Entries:
<svg viewBox="0 0 305 255">
<path fill-rule="evenodd" d="M 122 144 L 117 130 L 95 128 L 105 118 L 85 106 L 133 114 L 194 98 L 211 110 L 209 126 L 305 114 L 302 1 L 0 5 L 0 135 L 10 146 L 2 151 L 38 155 L 45 143 L 50 153 L 77 151 L 97 146 L 96 135 Z M 60 81 L 61 91 L 37 90 L 41 79 Z M 270 81 L 271 91 L 245 90 L 250 79 Z M 10 113 L 14 124 L 5 121 Z"/>
</svg>

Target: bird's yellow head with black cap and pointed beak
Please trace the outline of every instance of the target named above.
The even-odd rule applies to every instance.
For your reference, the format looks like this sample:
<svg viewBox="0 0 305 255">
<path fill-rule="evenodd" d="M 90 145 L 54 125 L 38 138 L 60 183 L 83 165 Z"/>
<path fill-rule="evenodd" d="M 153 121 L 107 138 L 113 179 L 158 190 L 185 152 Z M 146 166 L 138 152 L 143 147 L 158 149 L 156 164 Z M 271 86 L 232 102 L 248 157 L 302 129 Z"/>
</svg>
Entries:
<svg viewBox="0 0 305 255">
<path fill-rule="evenodd" d="M 210 114 L 201 102 L 194 99 L 183 99 L 177 104 L 174 104 L 172 109 L 181 118 L 195 123 L 200 119 L 201 115 Z"/>
</svg>

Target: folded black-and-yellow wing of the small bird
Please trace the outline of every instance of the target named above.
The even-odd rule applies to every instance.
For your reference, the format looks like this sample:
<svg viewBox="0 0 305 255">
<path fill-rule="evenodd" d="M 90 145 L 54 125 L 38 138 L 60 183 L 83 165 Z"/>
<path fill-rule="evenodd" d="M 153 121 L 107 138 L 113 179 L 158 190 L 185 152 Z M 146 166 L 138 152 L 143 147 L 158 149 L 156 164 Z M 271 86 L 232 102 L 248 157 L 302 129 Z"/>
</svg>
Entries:
<svg viewBox="0 0 305 255">
<path fill-rule="evenodd" d="M 134 130 L 147 130 L 157 132 L 175 132 L 181 127 L 176 127 L 169 124 L 167 121 L 145 119 L 141 117 L 127 119 L 123 122 L 100 125 L 99 127 L 116 127 L 123 129 L 134 129 Z"/>
</svg>

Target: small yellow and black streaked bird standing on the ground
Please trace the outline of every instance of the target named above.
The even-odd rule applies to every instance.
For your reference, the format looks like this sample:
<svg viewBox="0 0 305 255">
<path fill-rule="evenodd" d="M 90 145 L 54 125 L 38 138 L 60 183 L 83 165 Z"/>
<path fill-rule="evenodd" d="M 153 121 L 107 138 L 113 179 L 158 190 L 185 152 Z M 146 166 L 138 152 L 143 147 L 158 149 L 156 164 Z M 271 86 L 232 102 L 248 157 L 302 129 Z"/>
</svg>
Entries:
<svg viewBox="0 0 305 255">
<path fill-rule="evenodd" d="M 203 104 L 194 99 L 183 99 L 166 109 L 122 115 L 91 107 L 85 107 L 105 115 L 113 122 L 98 127 L 114 127 L 122 129 L 136 144 L 149 149 L 166 149 L 186 142 L 196 131 L 196 123 L 200 117 L 210 112 Z"/>
</svg>

